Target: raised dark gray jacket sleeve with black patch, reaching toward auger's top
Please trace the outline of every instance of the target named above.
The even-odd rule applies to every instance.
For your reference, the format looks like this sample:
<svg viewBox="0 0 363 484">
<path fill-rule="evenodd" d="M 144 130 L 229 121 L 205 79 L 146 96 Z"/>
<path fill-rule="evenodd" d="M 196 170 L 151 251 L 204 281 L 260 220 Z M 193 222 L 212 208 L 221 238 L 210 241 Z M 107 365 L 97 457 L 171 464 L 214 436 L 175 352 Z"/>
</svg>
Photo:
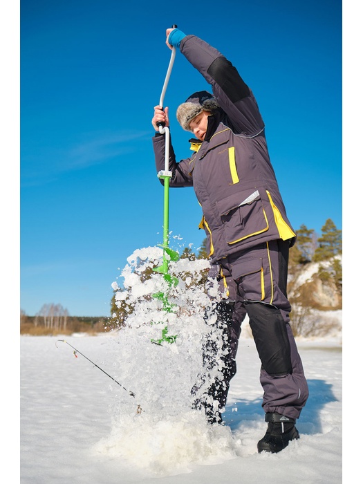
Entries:
<svg viewBox="0 0 363 484">
<path fill-rule="evenodd" d="M 263 130 L 263 120 L 252 91 L 232 63 L 216 48 L 195 35 L 187 35 L 180 42 L 180 53 L 212 86 L 214 96 L 235 133 L 256 136 Z"/>
</svg>

